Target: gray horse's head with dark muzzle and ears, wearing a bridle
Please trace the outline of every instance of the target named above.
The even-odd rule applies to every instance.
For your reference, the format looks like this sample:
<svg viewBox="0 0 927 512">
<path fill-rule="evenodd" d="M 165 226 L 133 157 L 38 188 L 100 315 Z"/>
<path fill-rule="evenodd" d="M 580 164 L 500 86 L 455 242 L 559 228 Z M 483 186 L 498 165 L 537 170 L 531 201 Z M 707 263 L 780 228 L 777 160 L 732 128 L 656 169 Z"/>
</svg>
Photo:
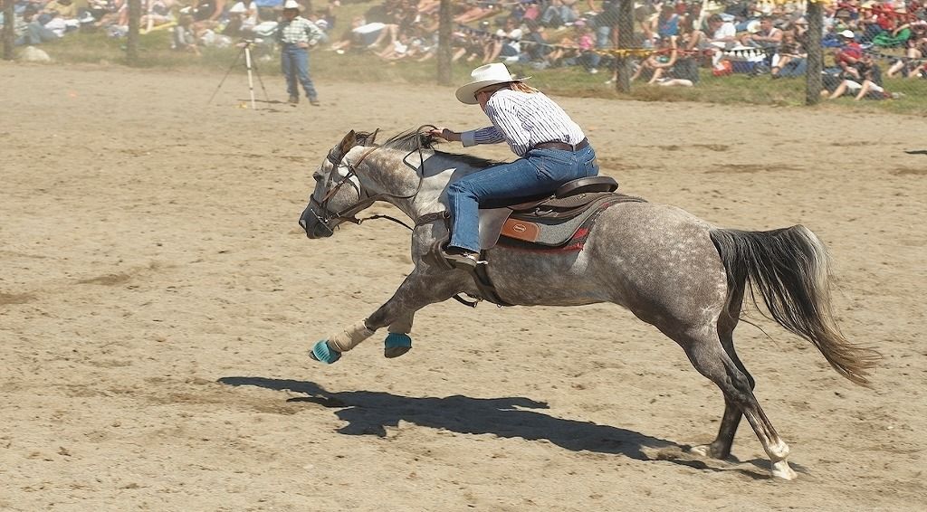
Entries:
<svg viewBox="0 0 927 512">
<path fill-rule="evenodd" d="M 356 222 L 354 214 L 364 196 L 361 181 L 357 177 L 355 165 L 348 157 L 351 149 L 358 146 L 374 144 L 376 131 L 373 133 L 349 131 L 339 144 L 312 173 L 315 190 L 309 198 L 309 205 L 299 218 L 299 226 L 306 231 L 309 238 L 324 238 L 334 234 L 335 227 L 345 220 Z"/>
</svg>

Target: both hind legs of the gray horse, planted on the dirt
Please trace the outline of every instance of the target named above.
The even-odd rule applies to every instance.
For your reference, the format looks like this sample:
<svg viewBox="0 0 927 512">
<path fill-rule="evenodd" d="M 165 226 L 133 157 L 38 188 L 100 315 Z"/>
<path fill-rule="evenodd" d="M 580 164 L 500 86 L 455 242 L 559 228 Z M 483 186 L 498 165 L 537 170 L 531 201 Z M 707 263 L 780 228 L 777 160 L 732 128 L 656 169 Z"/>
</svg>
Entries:
<svg viewBox="0 0 927 512">
<path fill-rule="evenodd" d="M 750 426 L 756 432 L 756 437 L 763 444 L 763 449 L 766 450 L 772 462 L 772 476 L 794 480 L 795 472 L 786 460 L 789 456 L 789 446 L 781 440 L 776 429 L 769 422 L 769 418 L 756 402 L 752 380 L 748 374 L 738 368 L 743 365 L 737 365 L 729 356 L 717 331 L 712 327 L 705 326 L 698 331 L 680 333 L 673 336 L 673 339 L 686 351 L 686 355 L 692 361 L 692 366 L 715 382 L 717 387 L 721 388 L 721 393 L 724 393 L 724 419 L 721 424 L 722 430 L 718 432 L 718 439 L 715 442 L 717 448 L 723 450 L 727 445 L 727 449 L 730 450 L 730 442 L 727 438 L 728 436 L 732 438 L 733 432 L 736 431 L 740 415 L 734 410 L 739 408 L 750 422 Z"/>
</svg>

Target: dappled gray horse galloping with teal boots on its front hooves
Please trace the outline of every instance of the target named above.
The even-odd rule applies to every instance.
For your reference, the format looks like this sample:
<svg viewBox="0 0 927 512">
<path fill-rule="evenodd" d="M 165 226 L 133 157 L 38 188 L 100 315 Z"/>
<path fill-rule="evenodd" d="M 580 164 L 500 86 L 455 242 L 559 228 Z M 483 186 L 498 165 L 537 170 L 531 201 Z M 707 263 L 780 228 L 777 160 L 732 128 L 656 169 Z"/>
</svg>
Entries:
<svg viewBox="0 0 927 512">
<path fill-rule="evenodd" d="M 447 236 L 439 216 L 448 183 L 492 162 L 432 148 L 419 131 L 384 144 L 375 133 L 350 131 L 315 171 L 315 190 L 299 221 L 310 238 L 333 234 L 337 224 L 376 201 L 398 207 L 416 220 L 415 268 L 399 289 L 368 318 L 316 343 L 314 359 L 335 362 L 388 329 L 386 356 L 411 347 L 408 333 L 416 311 L 458 293 L 479 297 L 472 275 L 423 260 Z M 674 206 L 628 202 L 603 210 L 581 251 L 544 254 L 497 246 L 485 253 L 498 296 L 520 306 L 580 306 L 611 302 L 654 325 L 689 356 L 700 373 L 724 393 L 724 416 L 715 441 L 696 446 L 700 456 L 730 455 L 734 433 L 746 416 L 772 461 L 772 476 L 796 477 L 789 447 L 754 396 L 754 379 L 734 352 L 747 284 L 756 305 L 762 295 L 772 318 L 805 338 L 841 375 L 867 384 L 879 354 L 846 341 L 832 318 L 828 256 L 804 226 L 773 231 L 734 231 L 712 226 Z"/>
</svg>

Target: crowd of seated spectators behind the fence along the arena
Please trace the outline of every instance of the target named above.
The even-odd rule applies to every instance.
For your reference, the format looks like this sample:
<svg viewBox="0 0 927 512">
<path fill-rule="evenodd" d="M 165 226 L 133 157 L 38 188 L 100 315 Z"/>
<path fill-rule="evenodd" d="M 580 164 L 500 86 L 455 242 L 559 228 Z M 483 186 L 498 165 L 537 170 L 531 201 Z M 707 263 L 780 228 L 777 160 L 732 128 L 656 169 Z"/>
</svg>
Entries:
<svg viewBox="0 0 927 512">
<path fill-rule="evenodd" d="M 348 0 L 345 0 L 348 1 Z M 319 5 L 320 2 L 325 2 Z M 423 61 L 438 50 L 439 0 L 384 0 L 337 24 L 339 0 L 299 0 L 302 16 L 338 55 Z M 838 0 L 823 6 L 825 91 L 883 93 L 882 75 L 927 78 L 927 0 Z M 142 0 L 143 31 L 171 31 L 171 45 L 199 54 L 240 39 L 273 44 L 283 0 Z M 519 63 L 533 69 L 614 69 L 634 61 L 632 80 L 692 86 L 700 70 L 771 79 L 805 74 L 805 2 L 638 0 L 630 47 L 618 46 L 619 0 L 466 0 L 452 3 L 454 61 Z M 313 8 L 314 7 L 314 8 Z M 43 44 L 70 31 L 127 31 L 127 0 L 18 0 L 16 44 Z M 623 39 L 622 39 L 623 41 Z M 709 71 L 710 70 L 710 71 Z M 607 82 L 616 80 L 612 75 Z M 867 83 L 869 82 L 869 83 Z"/>
</svg>

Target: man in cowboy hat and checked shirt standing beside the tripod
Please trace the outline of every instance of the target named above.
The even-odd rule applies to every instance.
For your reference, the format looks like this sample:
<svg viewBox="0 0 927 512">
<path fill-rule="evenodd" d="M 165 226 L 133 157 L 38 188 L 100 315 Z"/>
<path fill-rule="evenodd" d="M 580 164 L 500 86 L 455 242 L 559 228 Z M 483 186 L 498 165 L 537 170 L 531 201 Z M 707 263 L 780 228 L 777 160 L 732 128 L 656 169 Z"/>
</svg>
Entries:
<svg viewBox="0 0 927 512">
<path fill-rule="evenodd" d="M 299 16 L 300 8 L 296 0 L 286 0 L 284 4 L 284 19 L 277 28 L 277 39 L 281 45 L 280 66 L 286 76 L 289 102 L 299 103 L 298 84 L 302 84 L 309 103 L 319 106 L 319 95 L 309 77 L 309 48 L 317 44 L 324 33 L 309 19 Z"/>
</svg>

